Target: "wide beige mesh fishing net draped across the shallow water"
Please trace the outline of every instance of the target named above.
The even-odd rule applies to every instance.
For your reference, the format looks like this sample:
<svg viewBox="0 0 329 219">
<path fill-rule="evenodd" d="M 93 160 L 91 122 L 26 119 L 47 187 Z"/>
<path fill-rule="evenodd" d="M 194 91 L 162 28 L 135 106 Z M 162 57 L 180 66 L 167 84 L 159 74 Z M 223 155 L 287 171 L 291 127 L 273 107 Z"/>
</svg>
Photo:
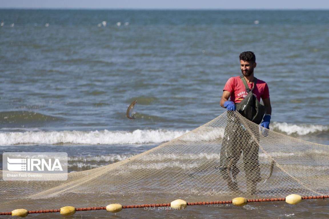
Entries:
<svg viewBox="0 0 329 219">
<path fill-rule="evenodd" d="M 328 145 L 264 132 L 228 111 L 127 160 L 68 173 L 66 181 L 1 178 L 0 212 L 326 195 L 328 157 Z"/>
</svg>

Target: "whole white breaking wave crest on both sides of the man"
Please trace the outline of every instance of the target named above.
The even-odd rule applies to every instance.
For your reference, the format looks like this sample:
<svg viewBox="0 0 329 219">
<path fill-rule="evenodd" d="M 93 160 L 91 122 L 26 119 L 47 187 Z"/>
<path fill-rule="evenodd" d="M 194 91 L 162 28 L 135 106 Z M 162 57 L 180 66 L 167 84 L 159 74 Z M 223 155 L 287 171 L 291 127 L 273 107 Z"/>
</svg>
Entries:
<svg viewBox="0 0 329 219">
<path fill-rule="evenodd" d="M 135 131 L 41 131 L 38 128 L 1 128 L 0 145 L 16 144 L 147 144 L 171 141 L 189 130 L 147 129 Z M 271 130 L 292 136 L 327 134 L 329 126 L 296 125 L 286 122 L 273 122 Z M 202 129 L 193 135 L 182 137 L 183 141 L 213 141 L 222 137 L 224 128 Z"/>
</svg>

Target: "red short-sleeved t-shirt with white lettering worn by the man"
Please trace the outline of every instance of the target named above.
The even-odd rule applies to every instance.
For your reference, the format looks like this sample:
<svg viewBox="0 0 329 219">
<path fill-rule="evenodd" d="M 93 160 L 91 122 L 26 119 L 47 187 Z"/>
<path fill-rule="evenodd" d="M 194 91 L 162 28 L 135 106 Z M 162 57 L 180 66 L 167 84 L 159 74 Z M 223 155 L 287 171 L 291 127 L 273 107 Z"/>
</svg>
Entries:
<svg viewBox="0 0 329 219">
<path fill-rule="evenodd" d="M 254 86 L 254 83 L 249 84 L 248 86 L 250 89 Z M 241 100 L 243 100 L 247 96 L 246 89 L 244 87 L 244 84 L 240 78 L 240 76 L 237 77 L 231 77 L 227 80 L 223 91 L 228 91 L 231 93 L 231 101 L 235 103 L 240 103 Z M 252 91 L 253 95 L 257 97 L 258 101 L 261 101 L 262 99 L 269 98 L 269 91 L 268 86 L 265 81 L 257 79 L 256 87 Z"/>
</svg>

